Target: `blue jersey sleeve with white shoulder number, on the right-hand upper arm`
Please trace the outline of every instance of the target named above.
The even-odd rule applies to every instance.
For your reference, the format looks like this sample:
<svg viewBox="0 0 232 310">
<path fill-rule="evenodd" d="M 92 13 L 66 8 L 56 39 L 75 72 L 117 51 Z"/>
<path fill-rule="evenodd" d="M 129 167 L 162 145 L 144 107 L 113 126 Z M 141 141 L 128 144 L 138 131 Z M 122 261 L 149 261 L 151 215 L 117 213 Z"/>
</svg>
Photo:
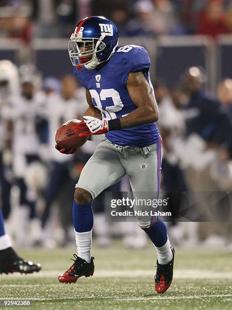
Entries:
<svg viewBox="0 0 232 310">
<path fill-rule="evenodd" d="M 129 47 L 132 47 L 126 52 Z M 120 52 L 121 51 L 121 52 Z M 126 46 L 119 48 L 118 53 L 123 53 L 123 85 L 126 86 L 130 72 L 146 71 L 150 67 L 150 59 L 147 51 L 141 46 Z"/>
</svg>

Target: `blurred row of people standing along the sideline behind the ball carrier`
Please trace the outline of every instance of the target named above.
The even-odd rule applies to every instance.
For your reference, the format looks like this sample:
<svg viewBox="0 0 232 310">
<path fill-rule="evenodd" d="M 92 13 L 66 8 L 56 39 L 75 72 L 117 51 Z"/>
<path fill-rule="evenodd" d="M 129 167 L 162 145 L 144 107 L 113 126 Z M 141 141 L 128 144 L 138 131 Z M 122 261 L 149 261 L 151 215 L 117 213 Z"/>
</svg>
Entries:
<svg viewBox="0 0 232 310">
<path fill-rule="evenodd" d="M 217 93 L 210 94 L 204 90 L 206 78 L 201 67 L 190 67 L 172 89 L 164 81 L 153 81 L 163 137 L 161 189 L 170 198 L 166 211 L 174 216 L 180 192 L 232 189 L 232 80 L 221 81 Z M 81 119 L 86 109 L 85 90 L 74 76 L 43 79 L 33 65 L 18 68 L 0 61 L 1 205 L 18 246 L 55 247 L 73 241 L 74 185 L 99 142 L 87 141 L 73 155 L 60 154 L 54 147 L 55 132 L 64 122 Z M 124 178 L 108 190 L 131 189 Z M 191 206 L 196 218 L 208 212 L 209 222 L 171 220 L 172 243 L 228 245 L 231 223 L 216 222 L 211 207 L 204 199 Z M 219 218 L 227 207 L 222 201 Z M 135 222 L 107 222 L 105 208 L 110 206 L 102 193 L 93 207 L 99 246 L 108 246 L 112 237 L 123 237 L 126 246 L 145 246 L 146 236 Z"/>
</svg>

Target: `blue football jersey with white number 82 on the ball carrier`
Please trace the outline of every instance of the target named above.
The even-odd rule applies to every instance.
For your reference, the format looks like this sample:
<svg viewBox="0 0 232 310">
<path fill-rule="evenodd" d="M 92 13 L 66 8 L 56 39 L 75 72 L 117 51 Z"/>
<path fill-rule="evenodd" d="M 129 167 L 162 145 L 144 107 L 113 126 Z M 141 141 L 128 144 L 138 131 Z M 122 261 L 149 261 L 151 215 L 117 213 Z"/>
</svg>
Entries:
<svg viewBox="0 0 232 310">
<path fill-rule="evenodd" d="M 102 117 L 113 120 L 125 117 L 137 109 L 126 87 L 130 72 L 143 71 L 152 88 L 148 73 L 149 67 L 150 59 L 147 51 L 140 46 L 127 45 L 115 50 L 107 64 L 99 70 L 88 70 L 84 66 L 78 70 L 74 67 L 74 74 L 90 91 L 93 104 L 100 109 Z M 159 140 L 159 131 L 155 123 L 113 130 L 105 135 L 112 143 L 124 146 L 143 147 Z"/>
</svg>

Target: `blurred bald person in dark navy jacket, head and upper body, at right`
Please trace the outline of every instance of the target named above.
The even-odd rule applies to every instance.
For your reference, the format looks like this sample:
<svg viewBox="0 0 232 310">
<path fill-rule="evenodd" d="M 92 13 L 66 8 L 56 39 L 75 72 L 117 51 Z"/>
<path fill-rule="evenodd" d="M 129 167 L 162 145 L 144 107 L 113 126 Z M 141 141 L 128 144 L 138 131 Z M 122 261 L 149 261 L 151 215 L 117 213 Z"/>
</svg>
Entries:
<svg viewBox="0 0 232 310">
<path fill-rule="evenodd" d="M 220 102 L 204 90 L 206 75 L 202 68 L 191 67 L 184 78 L 189 102 L 186 120 L 186 135 L 197 133 L 207 142 L 207 148 L 229 141 L 229 119 Z"/>
</svg>

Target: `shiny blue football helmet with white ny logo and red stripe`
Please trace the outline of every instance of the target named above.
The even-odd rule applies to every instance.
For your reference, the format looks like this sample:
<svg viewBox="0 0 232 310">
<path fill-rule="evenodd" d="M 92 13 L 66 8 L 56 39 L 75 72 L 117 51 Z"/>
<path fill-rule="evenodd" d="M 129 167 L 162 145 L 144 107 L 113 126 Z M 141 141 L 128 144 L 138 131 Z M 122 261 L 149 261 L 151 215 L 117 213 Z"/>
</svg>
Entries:
<svg viewBox="0 0 232 310">
<path fill-rule="evenodd" d="M 117 27 L 105 17 L 91 16 L 80 21 L 71 34 L 68 54 L 73 66 L 93 70 L 109 60 L 118 44 Z"/>
</svg>

